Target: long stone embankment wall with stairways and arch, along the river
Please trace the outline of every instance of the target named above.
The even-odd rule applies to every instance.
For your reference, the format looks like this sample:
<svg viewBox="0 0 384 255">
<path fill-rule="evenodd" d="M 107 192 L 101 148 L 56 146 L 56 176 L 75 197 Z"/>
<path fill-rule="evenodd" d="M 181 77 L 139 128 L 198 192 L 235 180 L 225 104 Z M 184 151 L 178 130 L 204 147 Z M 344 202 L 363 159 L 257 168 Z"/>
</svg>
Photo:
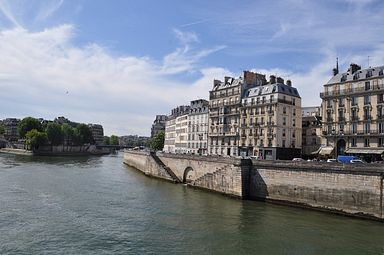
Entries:
<svg viewBox="0 0 384 255">
<path fill-rule="evenodd" d="M 125 151 L 143 173 L 242 199 L 384 220 L 384 167 Z"/>
</svg>

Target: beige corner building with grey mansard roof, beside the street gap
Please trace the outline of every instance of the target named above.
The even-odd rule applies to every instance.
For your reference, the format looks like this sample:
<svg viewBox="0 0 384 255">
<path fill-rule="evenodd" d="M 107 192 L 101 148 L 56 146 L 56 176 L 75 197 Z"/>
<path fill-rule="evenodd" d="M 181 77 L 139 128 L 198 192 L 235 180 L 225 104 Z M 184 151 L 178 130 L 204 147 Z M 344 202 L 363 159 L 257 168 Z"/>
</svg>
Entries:
<svg viewBox="0 0 384 255">
<path fill-rule="evenodd" d="M 291 81 L 270 76 L 245 90 L 240 110 L 241 156 L 292 159 L 301 156 L 301 97 Z"/>
</svg>

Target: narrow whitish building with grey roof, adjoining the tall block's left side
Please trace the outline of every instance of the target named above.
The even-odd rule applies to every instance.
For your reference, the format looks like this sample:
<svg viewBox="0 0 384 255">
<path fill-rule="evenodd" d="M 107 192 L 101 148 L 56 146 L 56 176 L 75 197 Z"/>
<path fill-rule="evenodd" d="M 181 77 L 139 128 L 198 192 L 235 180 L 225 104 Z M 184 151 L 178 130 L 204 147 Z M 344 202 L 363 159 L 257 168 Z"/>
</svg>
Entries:
<svg viewBox="0 0 384 255">
<path fill-rule="evenodd" d="M 208 151 L 208 101 L 191 101 L 188 115 L 188 152 L 206 155 Z"/>
</svg>

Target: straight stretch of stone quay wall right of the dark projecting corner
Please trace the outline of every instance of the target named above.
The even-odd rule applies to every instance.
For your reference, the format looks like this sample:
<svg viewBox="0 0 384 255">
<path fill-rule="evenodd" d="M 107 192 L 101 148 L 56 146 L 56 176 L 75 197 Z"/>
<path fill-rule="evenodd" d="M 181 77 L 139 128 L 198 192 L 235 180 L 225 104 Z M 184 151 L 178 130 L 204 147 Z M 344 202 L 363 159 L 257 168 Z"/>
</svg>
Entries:
<svg viewBox="0 0 384 255">
<path fill-rule="evenodd" d="M 249 188 L 252 199 L 383 219 L 383 172 L 378 169 L 256 163 Z"/>
</svg>

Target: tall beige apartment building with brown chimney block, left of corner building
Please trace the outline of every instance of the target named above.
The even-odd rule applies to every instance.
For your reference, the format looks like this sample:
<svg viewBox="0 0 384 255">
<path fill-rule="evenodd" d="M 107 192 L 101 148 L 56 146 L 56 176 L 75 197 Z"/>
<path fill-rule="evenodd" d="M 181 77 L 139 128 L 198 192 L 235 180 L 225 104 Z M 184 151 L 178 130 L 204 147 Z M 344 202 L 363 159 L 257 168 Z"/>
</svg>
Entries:
<svg viewBox="0 0 384 255">
<path fill-rule="evenodd" d="M 239 78 L 214 80 L 209 91 L 208 153 L 239 155 L 241 98 L 247 89 L 266 84 L 265 75 L 244 71 Z"/>
</svg>

